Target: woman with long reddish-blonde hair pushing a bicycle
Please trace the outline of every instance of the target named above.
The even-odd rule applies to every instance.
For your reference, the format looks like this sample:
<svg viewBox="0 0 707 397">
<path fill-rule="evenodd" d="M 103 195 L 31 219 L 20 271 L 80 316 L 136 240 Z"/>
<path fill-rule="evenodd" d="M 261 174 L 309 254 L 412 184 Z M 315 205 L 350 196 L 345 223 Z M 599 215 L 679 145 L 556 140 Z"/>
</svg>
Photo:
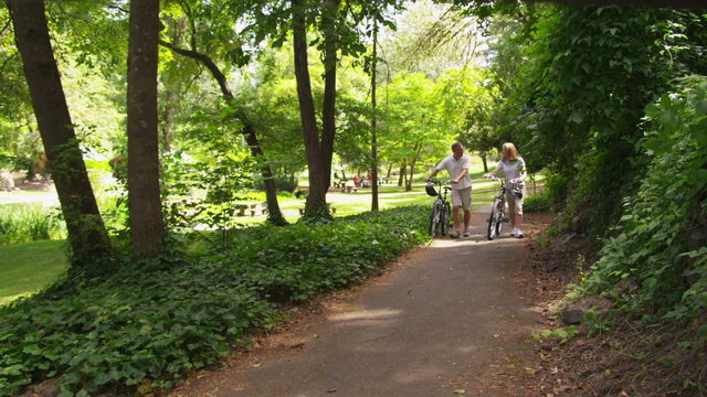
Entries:
<svg viewBox="0 0 707 397">
<path fill-rule="evenodd" d="M 528 173 L 526 172 L 526 162 L 523 160 L 516 147 L 506 142 L 502 146 L 504 158 L 498 162 L 496 169 L 485 176 L 496 176 L 500 171 L 504 172 L 508 184 L 506 184 L 506 201 L 508 202 L 508 213 L 510 215 L 510 227 L 514 237 L 523 238 L 523 197 L 526 196 L 526 184 L 524 183 Z M 514 189 L 521 192 L 520 196 L 513 193 Z"/>
</svg>

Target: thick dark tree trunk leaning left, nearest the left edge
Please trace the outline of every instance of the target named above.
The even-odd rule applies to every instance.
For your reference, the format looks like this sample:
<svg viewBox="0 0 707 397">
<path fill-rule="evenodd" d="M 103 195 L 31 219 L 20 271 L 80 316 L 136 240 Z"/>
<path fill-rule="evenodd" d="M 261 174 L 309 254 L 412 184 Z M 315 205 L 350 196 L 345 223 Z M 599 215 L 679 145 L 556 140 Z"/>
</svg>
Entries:
<svg viewBox="0 0 707 397">
<path fill-rule="evenodd" d="M 73 270 L 106 269 L 113 249 L 88 180 L 49 36 L 43 0 L 8 0 L 44 152 L 72 249 Z"/>
</svg>

